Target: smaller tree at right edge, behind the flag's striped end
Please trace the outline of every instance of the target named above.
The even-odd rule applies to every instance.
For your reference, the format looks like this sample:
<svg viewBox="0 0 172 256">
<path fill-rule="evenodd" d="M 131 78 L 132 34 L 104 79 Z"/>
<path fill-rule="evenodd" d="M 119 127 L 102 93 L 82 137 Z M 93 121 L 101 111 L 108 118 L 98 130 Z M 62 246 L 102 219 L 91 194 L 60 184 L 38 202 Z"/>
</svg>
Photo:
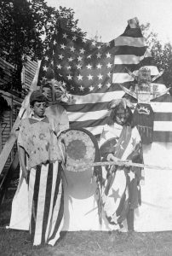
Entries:
<svg viewBox="0 0 172 256">
<path fill-rule="evenodd" d="M 158 34 L 150 32 L 150 23 L 140 26 L 143 36 L 146 38 L 152 59 L 159 70 L 164 70 L 163 82 L 167 87 L 172 87 L 172 45 L 170 43 L 161 44 Z"/>
</svg>

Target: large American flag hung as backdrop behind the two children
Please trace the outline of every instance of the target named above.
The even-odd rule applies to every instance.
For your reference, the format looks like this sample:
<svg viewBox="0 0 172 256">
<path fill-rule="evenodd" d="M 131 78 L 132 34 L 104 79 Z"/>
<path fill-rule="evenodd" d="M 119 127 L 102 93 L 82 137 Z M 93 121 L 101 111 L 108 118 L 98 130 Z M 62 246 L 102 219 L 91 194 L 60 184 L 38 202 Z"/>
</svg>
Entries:
<svg viewBox="0 0 172 256">
<path fill-rule="evenodd" d="M 150 66 L 152 58 L 140 27 L 133 27 L 132 22 L 121 36 L 108 43 L 81 38 L 60 27 L 54 32 L 41 63 L 38 84 L 47 79 L 50 67 L 54 79 L 60 81 L 74 98 L 73 104 L 65 106 L 72 128 L 86 128 L 94 135 L 101 133 L 109 114 L 108 102 L 124 94 L 119 84 L 129 88 L 134 81 L 126 67 L 135 73 L 140 67 L 149 65 L 152 74 L 158 75 L 157 67 Z M 170 97 L 164 100 L 169 101 Z M 155 112 L 158 111 L 155 113 L 155 129 L 158 129 L 155 141 L 166 141 L 168 136 L 172 140 L 169 131 L 169 135 L 159 134 L 163 127 L 156 122 L 164 119 L 159 108 L 155 107 Z M 171 119 L 171 113 L 168 118 Z"/>
</svg>

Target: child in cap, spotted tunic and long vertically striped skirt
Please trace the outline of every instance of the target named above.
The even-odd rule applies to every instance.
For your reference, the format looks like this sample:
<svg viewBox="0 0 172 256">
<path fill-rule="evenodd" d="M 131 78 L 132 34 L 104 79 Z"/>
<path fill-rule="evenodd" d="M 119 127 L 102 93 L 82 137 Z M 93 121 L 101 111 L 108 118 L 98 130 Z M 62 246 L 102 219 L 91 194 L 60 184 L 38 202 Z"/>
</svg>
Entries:
<svg viewBox="0 0 172 256">
<path fill-rule="evenodd" d="M 64 215 L 61 172 L 65 152 L 56 136 L 58 125 L 44 114 L 46 104 L 40 91 L 32 92 L 32 115 L 21 120 L 18 136 L 22 176 L 28 185 L 29 230 L 35 246 L 54 245 Z"/>
</svg>

